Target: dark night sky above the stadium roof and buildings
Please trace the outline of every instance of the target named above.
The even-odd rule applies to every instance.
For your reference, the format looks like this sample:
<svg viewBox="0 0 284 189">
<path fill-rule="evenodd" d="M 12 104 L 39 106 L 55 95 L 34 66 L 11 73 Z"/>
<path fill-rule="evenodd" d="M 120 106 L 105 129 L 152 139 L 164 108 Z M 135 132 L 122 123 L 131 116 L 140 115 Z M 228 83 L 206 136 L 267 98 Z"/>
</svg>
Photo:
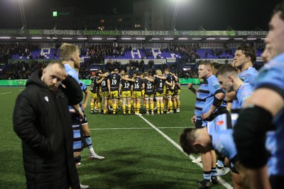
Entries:
<svg viewBox="0 0 284 189">
<path fill-rule="evenodd" d="M 44 18 L 50 8 L 75 6 L 89 13 L 112 12 L 117 7 L 119 13 L 131 13 L 133 1 L 147 0 L 22 0 L 28 18 Z M 151 0 L 148 0 L 151 1 Z M 175 5 L 174 0 L 173 7 Z M 268 21 L 275 4 L 280 0 L 182 0 L 178 10 L 175 28 L 177 30 L 226 30 L 230 25 L 234 30 L 253 30 L 255 26 L 268 30 Z M 21 28 L 21 14 L 18 0 L 0 0 L 0 28 Z"/>
</svg>

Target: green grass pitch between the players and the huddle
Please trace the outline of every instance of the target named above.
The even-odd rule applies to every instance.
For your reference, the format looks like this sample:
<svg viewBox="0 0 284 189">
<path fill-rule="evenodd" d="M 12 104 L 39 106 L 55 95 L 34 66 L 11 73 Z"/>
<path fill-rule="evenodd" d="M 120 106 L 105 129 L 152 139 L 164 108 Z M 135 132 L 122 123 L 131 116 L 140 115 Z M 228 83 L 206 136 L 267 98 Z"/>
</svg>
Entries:
<svg viewBox="0 0 284 189">
<path fill-rule="evenodd" d="M 1 177 L 0 188 L 26 188 L 21 140 L 13 132 L 12 114 L 16 96 L 23 87 L 0 87 L 1 109 Z M 181 112 L 143 115 L 170 139 L 178 143 L 183 127 L 193 127 L 195 96 L 183 88 Z M 89 160 L 82 151 L 80 181 L 90 188 L 198 188 L 202 168 L 192 164 L 188 156 L 171 144 L 137 115 L 92 115 L 89 121 L 92 142 L 103 161 Z M 142 111 L 142 113 L 144 113 Z M 231 176 L 222 177 L 231 184 Z M 224 188 L 221 184 L 212 188 Z"/>
</svg>

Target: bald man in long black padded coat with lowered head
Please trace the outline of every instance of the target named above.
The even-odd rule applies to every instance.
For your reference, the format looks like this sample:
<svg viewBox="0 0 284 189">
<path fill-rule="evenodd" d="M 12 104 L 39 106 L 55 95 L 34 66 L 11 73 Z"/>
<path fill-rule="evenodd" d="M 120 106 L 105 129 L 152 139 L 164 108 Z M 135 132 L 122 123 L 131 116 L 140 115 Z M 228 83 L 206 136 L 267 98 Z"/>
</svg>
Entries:
<svg viewBox="0 0 284 189">
<path fill-rule="evenodd" d="M 13 111 L 13 129 L 22 139 L 27 188 L 80 188 L 68 110 L 68 105 L 80 101 L 81 88 L 61 63 L 31 74 Z"/>
</svg>

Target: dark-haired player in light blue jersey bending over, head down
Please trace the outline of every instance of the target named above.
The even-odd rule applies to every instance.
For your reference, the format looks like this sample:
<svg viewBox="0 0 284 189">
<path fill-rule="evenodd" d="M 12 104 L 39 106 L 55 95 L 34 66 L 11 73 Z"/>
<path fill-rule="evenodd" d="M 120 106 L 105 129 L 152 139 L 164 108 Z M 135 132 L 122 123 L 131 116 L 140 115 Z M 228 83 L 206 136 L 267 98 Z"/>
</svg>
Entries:
<svg viewBox="0 0 284 189">
<path fill-rule="evenodd" d="M 217 116 L 212 122 L 208 123 L 207 127 L 201 129 L 186 128 L 183 130 L 182 134 L 180 134 L 180 146 L 187 154 L 206 153 L 212 149 L 219 151 L 231 163 L 234 188 L 242 188 L 239 173 L 234 166 L 238 159 L 229 113 Z"/>
</svg>

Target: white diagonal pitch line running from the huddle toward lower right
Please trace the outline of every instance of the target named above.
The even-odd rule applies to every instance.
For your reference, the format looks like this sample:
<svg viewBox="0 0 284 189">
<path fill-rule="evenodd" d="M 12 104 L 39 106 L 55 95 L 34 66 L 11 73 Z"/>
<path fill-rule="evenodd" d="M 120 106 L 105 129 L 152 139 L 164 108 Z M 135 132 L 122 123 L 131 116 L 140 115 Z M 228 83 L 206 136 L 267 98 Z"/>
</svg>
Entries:
<svg viewBox="0 0 284 189">
<path fill-rule="evenodd" d="M 178 148 L 180 151 L 182 151 L 183 154 L 185 154 L 186 156 L 188 156 L 183 150 L 182 150 L 182 147 L 180 147 L 179 144 L 177 144 L 175 141 L 173 141 L 173 139 L 171 139 L 170 137 L 168 137 L 167 134 L 163 133 L 161 130 L 158 129 L 158 127 L 155 127 L 155 125 L 153 125 L 151 122 L 149 122 L 148 120 L 146 120 L 146 118 L 143 118 L 142 115 L 139 115 L 139 117 L 144 120 L 145 122 L 148 123 L 148 125 L 150 125 L 151 127 L 153 127 L 154 130 L 156 130 L 158 133 L 160 133 L 163 137 L 165 137 L 165 139 L 167 139 L 170 143 L 172 143 L 176 148 Z M 195 157 L 190 155 L 189 156 L 191 160 L 194 160 Z M 202 167 L 202 164 L 201 163 L 198 163 L 197 164 L 198 166 L 200 166 L 201 168 Z M 224 185 L 225 188 L 227 189 L 233 189 L 233 187 L 229 184 L 229 183 L 226 183 L 226 181 L 224 181 L 222 178 L 220 178 L 218 176 L 218 180 L 219 180 L 219 183 L 221 183 L 222 185 Z"/>
</svg>

